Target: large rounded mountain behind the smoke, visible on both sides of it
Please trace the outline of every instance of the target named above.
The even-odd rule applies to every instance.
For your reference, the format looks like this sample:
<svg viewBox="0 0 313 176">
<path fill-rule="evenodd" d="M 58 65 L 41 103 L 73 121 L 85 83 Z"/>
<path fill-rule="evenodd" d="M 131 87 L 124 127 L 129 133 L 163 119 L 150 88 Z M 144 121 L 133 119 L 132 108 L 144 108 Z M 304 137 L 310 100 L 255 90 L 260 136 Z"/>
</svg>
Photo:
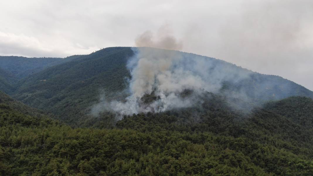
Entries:
<svg viewBox="0 0 313 176">
<path fill-rule="evenodd" d="M 153 49 L 158 51 L 159 49 Z M 162 52 L 172 52 L 162 50 Z M 313 98 L 313 92 L 284 78 L 264 75 L 240 68 L 222 60 L 182 53 L 182 57 L 206 59 L 220 73 L 245 74 L 247 77 L 237 82 L 224 81 L 221 92 L 224 95 L 244 93 L 255 104 L 268 100 L 278 100 L 289 96 L 306 96 Z M 129 47 L 105 48 L 90 55 L 74 57 L 72 61 L 46 68 L 38 73 L 21 79 L 16 90 L 10 93 L 14 98 L 32 107 L 53 113 L 57 118 L 77 125 L 77 118 L 90 112 L 101 94 L 106 99 L 124 99 L 123 92 L 131 78 L 126 68 L 127 61 L 134 55 Z M 50 64 L 51 65 L 51 64 Z M 233 98 L 233 97 L 231 97 Z M 230 99 L 231 99 L 230 98 Z M 238 104 L 236 98 L 233 100 Z M 249 106 L 249 105 L 247 105 Z M 86 117 L 83 117 L 84 119 Z"/>
</svg>

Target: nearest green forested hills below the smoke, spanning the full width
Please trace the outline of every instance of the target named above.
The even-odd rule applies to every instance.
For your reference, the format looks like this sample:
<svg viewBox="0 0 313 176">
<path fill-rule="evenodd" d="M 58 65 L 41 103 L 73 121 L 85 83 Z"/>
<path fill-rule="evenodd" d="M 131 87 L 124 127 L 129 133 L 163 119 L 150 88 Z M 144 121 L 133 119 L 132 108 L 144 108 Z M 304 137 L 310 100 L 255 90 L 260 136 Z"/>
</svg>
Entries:
<svg viewBox="0 0 313 176">
<path fill-rule="evenodd" d="M 191 113 L 197 109 L 181 109 L 94 129 L 70 128 L 0 93 L 0 174 L 313 173 L 312 99 L 270 102 L 243 117 L 220 97 L 208 96 L 197 121 Z"/>
</svg>

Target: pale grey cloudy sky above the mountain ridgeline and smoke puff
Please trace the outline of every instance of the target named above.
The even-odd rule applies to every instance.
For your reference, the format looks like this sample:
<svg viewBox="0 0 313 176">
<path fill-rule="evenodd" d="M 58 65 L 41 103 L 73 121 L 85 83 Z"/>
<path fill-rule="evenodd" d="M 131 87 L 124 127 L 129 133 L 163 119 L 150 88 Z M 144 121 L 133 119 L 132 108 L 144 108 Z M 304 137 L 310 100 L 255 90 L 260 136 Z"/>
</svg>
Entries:
<svg viewBox="0 0 313 176">
<path fill-rule="evenodd" d="M 313 90 L 312 0 L 0 1 L 0 55 L 88 54 L 142 34 Z"/>
</svg>

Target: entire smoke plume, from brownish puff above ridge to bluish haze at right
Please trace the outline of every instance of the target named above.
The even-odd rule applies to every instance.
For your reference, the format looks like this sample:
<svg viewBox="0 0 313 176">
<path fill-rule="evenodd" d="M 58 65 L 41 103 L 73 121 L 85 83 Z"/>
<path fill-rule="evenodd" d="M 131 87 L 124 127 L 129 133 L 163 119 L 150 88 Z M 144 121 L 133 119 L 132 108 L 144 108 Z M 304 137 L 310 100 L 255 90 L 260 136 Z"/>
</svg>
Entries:
<svg viewBox="0 0 313 176">
<path fill-rule="evenodd" d="M 281 77 L 254 73 L 215 58 L 167 50 L 182 48 L 179 41 L 163 32 L 158 32 L 156 37 L 151 32 L 137 37 L 139 47 L 131 48 L 134 56 L 127 62 L 131 78 L 124 93 L 126 98 L 122 101 L 102 98 L 92 113 L 106 110 L 122 118 L 199 107 L 207 92 L 222 95 L 232 108 L 249 111 L 254 108 L 255 100 L 262 103 L 301 94 L 292 88 L 297 86 L 295 83 Z"/>
</svg>

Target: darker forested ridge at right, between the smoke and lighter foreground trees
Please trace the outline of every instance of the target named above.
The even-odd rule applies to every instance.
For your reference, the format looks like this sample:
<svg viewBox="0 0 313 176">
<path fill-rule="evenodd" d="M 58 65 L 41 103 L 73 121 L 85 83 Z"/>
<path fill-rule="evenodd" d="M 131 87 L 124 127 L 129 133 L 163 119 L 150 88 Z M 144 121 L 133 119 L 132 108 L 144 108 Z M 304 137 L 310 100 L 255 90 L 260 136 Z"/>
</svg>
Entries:
<svg viewBox="0 0 313 176">
<path fill-rule="evenodd" d="M 164 128 L 180 132 L 205 132 L 246 137 L 259 142 L 272 140 L 288 144 L 275 146 L 313 156 L 313 100 L 291 97 L 266 103 L 249 114 L 234 111 L 223 97 L 208 94 L 202 106 L 165 113 L 148 113 L 124 117 L 117 127 L 150 131 Z M 291 143 L 291 144 L 290 144 Z M 300 148 L 309 148 L 303 150 Z"/>
</svg>

